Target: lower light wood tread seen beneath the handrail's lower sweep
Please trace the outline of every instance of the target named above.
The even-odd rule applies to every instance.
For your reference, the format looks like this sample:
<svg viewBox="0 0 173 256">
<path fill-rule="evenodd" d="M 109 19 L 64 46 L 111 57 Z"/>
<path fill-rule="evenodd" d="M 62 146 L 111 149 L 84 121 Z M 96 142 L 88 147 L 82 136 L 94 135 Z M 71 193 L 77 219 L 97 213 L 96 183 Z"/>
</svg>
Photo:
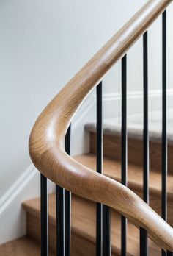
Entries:
<svg viewBox="0 0 173 256">
<path fill-rule="evenodd" d="M 72 232 L 85 240 L 95 243 L 95 202 L 72 196 Z M 40 199 L 23 203 L 29 213 L 40 214 Z M 49 196 L 49 221 L 56 226 L 55 194 Z M 120 255 L 120 216 L 115 211 L 111 213 L 111 244 L 113 255 Z M 150 252 L 158 255 L 160 249 L 150 241 Z M 128 255 L 139 255 L 139 230 L 128 223 Z"/>
</svg>

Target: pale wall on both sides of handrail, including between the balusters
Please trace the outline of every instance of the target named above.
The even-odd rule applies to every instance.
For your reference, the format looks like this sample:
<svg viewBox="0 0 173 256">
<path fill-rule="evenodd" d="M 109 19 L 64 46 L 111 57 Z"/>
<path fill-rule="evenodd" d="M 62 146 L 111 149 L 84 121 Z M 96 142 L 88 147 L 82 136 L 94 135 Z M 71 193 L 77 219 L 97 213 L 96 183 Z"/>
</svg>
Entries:
<svg viewBox="0 0 173 256">
<path fill-rule="evenodd" d="M 31 164 L 28 139 L 37 115 L 144 2 L 145 0 L 0 1 L 0 198 Z M 173 8 L 169 9 L 169 32 L 172 35 Z M 161 88 L 159 26 L 161 19 L 149 32 L 150 62 L 154 64 L 150 64 L 152 90 Z M 168 44 L 168 86 L 172 88 L 171 37 Z M 132 95 L 142 89 L 141 50 L 139 40 L 128 54 L 128 91 Z M 103 80 L 103 92 L 106 107 L 104 116 L 119 115 L 120 101 L 114 100 L 120 93 L 120 63 Z M 130 112 L 141 111 L 141 99 L 137 107 L 133 107 L 133 100 L 131 102 Z M 73 154 L 87 149 L 83 129 L 85 122 L 95 118 L 94 104 L 94 97 L 90 96 L 81 110 L 83 113 L 87 106 L 89 112 L 86 112 L 84 119 L 78 119 L 78 114 L 74 121 Z M 111 111 L 107 111 L 108 107 L 111 107 Z"/>
</svg>

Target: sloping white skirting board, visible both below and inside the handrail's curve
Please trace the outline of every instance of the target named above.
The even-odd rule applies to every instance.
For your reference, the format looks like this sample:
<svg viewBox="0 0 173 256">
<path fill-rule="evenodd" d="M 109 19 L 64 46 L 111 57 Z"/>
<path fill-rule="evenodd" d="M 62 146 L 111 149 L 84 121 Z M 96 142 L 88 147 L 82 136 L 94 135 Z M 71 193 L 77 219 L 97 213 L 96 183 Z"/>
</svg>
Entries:
<svg viewBox="0 0 173 256">
<path fill-rule="evenodd" d="M 73 120 L 73 138 L 79 145 L 77 153 L 86 152 L 87 140 L 84 135 L 84 124 L 90 119 L 90 112 L 95 105 L 93 96 L 81 105 L 81 108 L 76 113 Z M 72 141 L 73 141 L 72 138 Z M 76 139 L 77 138 L 77 139 Z M 72 150 L 76 154 L 76 149 Z M 49 192 L 53 192 L 55 185 L 52 182 L 48 183 Z M 22 203 L 26 200 L 40 196 L 40 173 L 33 165 L 29 166 L 21 177 L 18 177 L 15 183 L 8 189 L 0 198 L 0 244 L 12 241 L 26 234 L 26 214 L 22 208 Z"/>
</svg>

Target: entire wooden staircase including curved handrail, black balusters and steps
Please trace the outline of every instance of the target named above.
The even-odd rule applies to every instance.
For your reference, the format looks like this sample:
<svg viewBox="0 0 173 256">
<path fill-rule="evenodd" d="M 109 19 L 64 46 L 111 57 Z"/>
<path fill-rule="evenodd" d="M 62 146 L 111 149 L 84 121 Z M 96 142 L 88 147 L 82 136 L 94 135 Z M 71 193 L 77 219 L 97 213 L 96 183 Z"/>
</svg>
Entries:
<svg viewBox="0 0 173 256">
<path fill-rule="evenodd" d="M 166 109 L 166 7 L 171 2 L 147 1 L 39 115 L 30 134 L 29 154 L 41 173 L 41 200 L 23 202 L 26 237 L 0 246 L 1 256 L 48 256 L 48 249 L 49 255 L 59 256 L 148 256 L 148 250 L 151 256 L 172 256 L 173 140 L 172 128 L 170 134 L 166 129 L 169 113 Z M 157 124 L 154 129 L 148 126 L 148 29 L 159 15 L 162 16 L 162 132 Z M 141 36 L 144 108 L 143 115 L 133 117 L 129 123 L 128 50 Z M 102 81 L 119 60 L 122 64 L 122 123 L 107 120 L 102 129 Z M 135 72 L 133 77 L 135 79 Z M 97 131 L 95 124 L 87 124 L 89 154 L 70 157 L 70 124 L 81 103 L 94 88 L 97 88 Z M 136 124 L 136 120 L 143 116 L 144 124 Z M 155 117 L 151 120 L 155 121 Z M 127 123 L 131 124 L 128 137 Z M 49 195 L 49 212 L 48 179 L 56 184 L 56 196 L 54 193 Z"/>
</svg>

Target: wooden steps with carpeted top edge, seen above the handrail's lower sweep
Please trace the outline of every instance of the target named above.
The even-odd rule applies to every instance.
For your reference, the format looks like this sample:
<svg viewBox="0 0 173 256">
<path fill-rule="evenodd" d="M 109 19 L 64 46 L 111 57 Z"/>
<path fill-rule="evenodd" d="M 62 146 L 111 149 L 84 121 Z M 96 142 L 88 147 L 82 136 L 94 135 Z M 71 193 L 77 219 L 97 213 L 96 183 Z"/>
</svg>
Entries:
<svg viewBox="0 0 173 256">
<path fill-rule="evenodd" d="M 169 120 L 170 121 L 170 120 Z M 120 124 L 120 123 L 119 123 Z M 138 120 L 136 121 L 138 124 Z M 136 127 L 134 124 L 134 127 Z M 89 132 L 90 154 L 79 156 L 77 160 L 95 169 L 97 152 L 96 125 L 87 124 Z M 103 172 L 108 177 L 121 181 L 121 129 L 120 126 L 103 122 Z M 128 129 L 128 188 L 142 198 L 143 184 L 143 136 L 142 129 Z M 161 132 L 150 130 L 150 206 L 161 215 Z M 167 176 L 168 222 L 173 227 L 173 138 L 168 137 L 168 176 Z"/>
</svg>

